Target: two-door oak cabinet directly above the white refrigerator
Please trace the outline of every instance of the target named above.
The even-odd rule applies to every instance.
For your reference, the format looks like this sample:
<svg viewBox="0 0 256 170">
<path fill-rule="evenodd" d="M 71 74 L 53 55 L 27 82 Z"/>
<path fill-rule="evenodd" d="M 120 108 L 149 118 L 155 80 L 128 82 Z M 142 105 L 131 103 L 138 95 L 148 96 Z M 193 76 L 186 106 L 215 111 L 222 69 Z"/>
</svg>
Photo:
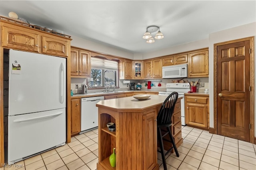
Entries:
<svg viewBox="0 0 256 170">
<path fill-rule="evenodd" d="M 2 20 L 0 25 L 2 47 L 59 57 L 69 56 L 70 38 Z"/>
</svg>

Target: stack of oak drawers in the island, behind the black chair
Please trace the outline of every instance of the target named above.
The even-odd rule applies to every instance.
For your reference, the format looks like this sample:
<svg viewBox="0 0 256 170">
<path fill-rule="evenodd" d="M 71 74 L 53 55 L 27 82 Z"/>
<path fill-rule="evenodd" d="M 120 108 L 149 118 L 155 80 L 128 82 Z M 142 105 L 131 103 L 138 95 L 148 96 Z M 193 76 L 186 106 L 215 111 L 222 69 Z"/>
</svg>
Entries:
<svg viewBox="0 0 256 170">
<path fill-rule="evenodd" d="M 174 108 L 174 113 L 172 115 L 172 127 L 171 127 L 171 131 L 172 131 L 172 136 L 174 138 L 176 147 L 179 147 L 180 144 L 183 142 L 182 136 L 181 136 L 181 102 L 180 102 L 180 98 L 177 100 L 175 108 Z M 164 128 L 164 130 L 166 130 L 166 128 Z M 170 137 L 168 135 L 166 135 L 164 137 L 164 139 L 170 140 Z M 170 142 L 167 141 L 163 141 L 164 142 L 164 149 L 168 150 L 170 149 L 170 147 L 172 147 L 172 144 Z M 174 152 L 174 150 L 171 151 L 172 153 Z"/>
</svg>

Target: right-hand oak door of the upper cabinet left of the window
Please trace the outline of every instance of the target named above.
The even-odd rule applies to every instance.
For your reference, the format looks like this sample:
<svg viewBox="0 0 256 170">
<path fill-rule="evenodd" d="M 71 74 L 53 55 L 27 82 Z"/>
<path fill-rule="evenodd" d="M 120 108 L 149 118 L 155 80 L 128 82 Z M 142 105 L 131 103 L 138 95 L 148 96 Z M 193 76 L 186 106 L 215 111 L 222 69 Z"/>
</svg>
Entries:
<svg viewBox="0 0 256 170">
<path fill-rule="evenodd" d="M 91 55 L 88 51 L 79 51 L 79 76 L 91 76 Z"/>
</svg>

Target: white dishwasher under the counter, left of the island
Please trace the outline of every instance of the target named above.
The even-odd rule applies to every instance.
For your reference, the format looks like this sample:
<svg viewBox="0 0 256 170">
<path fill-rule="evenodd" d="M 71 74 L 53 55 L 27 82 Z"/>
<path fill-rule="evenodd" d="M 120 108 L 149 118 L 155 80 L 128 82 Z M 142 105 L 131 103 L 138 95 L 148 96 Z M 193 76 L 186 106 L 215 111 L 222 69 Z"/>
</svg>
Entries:
<svg viewBox="0 0 256 170">
<path fill-rule="evenodd" d="M 81 132 L 98 126 L 98 107 L 96 104 L 104 96 L 81 99 Z"/>
</svg>

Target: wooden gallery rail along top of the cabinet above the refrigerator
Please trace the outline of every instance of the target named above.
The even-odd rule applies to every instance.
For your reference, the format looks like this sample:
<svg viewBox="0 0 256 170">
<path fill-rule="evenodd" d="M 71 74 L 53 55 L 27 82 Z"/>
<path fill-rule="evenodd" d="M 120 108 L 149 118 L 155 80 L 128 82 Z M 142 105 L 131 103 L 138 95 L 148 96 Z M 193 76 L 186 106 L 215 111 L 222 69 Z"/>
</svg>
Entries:
<svg viewBox="0 0 256 170">
<path fill-rule="evenodd" d="M 52 34 L 56 34 L 56 35 L 60 35 L 62 37 L 66 37 L 66 38 L 70 38 L 71 36 L 70 35 L 66 35 L 64 34 L 63 32 L 62 33 L 58 33 L 50 28 L 47 28 L 47 27 L 41 27 L 41 26 L 38 26 L 38 25 L 32 25 L 30 23 L 26 23 L 24 22 L 24 19 L 22 20 L 23 18 L 20 18 L 15 20 L 15 19 L 12 19 L 12 18 L 8 18 L 8 17 L 5 17 L 5 16 L 0 16 L 0 20 L 3 20 L 3 21 L 8 21 L 8 22 L 11 22 L 11 23 L 16 23 L 16 24 L 19 24 L 19 25 L 23 25 L 23 26 L 26 26 L 26 27 L 31 27 L 31 28 L 34 28 L 34 29 L 39 29 L 41 31 L 46 31 L 48 33 L 52 33 Z"/>
</svg>

